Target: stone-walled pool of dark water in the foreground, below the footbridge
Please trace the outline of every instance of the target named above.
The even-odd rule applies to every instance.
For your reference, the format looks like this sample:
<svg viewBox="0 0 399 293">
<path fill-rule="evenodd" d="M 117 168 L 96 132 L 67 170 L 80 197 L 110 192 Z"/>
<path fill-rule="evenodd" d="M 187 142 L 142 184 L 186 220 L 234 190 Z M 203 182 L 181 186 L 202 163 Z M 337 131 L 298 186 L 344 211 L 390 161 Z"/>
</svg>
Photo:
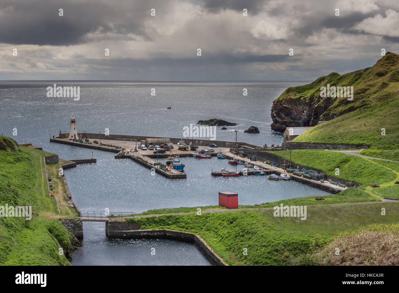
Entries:
<svg viewBox="0 0 399 293">
<path fill-rule="evenodd" d="M 84 222 L 83 234 L 83 246 L 71 254 L 72 265 L 211 265 L 191 243 L 108 239 L 105 223 L 99 222 Z"/>
</svg>

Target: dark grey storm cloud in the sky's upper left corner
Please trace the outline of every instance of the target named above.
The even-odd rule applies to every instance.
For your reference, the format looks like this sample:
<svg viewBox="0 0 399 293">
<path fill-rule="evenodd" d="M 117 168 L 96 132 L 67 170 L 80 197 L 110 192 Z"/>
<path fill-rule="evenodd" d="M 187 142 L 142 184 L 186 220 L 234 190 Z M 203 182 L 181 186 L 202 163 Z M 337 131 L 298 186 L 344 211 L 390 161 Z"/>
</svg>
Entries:
<svg viewBox="0 0 399 293">
<path fill-rule="evenodd" d="M 85 43 L 87 33 L 95 32 L 125 40 L 131 40 L 127 34 L 134 33 L 149 40 L 143 19 L 150 15 L 152 2 L 2 0 L 0 43 L 75 45 Z M 156 7 L 164 7 L 166 3 L 157 2 Z M 59 16 L 59 8 L 63 9 L 63 16 Z"/>
</svg>

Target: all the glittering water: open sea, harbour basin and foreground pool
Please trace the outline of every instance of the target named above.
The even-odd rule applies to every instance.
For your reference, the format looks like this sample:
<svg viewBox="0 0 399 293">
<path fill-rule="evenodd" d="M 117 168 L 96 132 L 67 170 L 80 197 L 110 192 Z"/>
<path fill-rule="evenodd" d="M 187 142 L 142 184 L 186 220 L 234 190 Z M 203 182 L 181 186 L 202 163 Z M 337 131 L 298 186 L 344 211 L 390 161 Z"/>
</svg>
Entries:
<svg viewBox="0 0 399 293">
<path fill-rule="evenodd" d="M 46 88 L 80 86 L 80 100 L 47 98 Z M 50 134 L 69 131 L 74 115 L 78 132 L 181 137 L 183 127 L 198 120 L 221 118 L 239 123 L 229 130 L 217 128 L 217 140 L 256 145 L 281 144 L 282 135 L 270 130 L 271 105 L 287 87 L 306 82 L 0 82 L 0 133 L 18 143 L 32 143 L 63 159 L 91 157 L 91 150 L 49 142 Z M 156 96 L 151 96 L 155 88 Z M 247 88 L 248 96 L 243 96 Z M 167 107 L 172 107 L 167 110 Z M 257 126 L 260 134 L 244 134 Z M 13 136 L 14 128 L 17 136 Z M 294 181 L 275 182 L 266 176 L 212 177 L 211 170 L 229 167 L 226 160 L 182 158 L 186 180 L 150 175 L 150 170 L 114 153 L 94 151 L 96 164 L 65 170 L 74 201 L 81 210 L 142 212 L 153 208 L 217 205 L 218 191 L 239 193 L 240 205 L 278 201 L 328 193 Z M 91 224 L 93 225 L 93 224 Z M 101 225 L 85 224 L 83 248 L 72 254 L 74 265 L 88 264 L 209 264 L 192 244 L 173 241 L 108 241 Z M 89 232 L 91 231 L 91 232 Z M 103 233 L 104 232 L 104 233 Z M 150 258 L 142 250 L 158 245 L 164 256 Z M 89 249 L 90 248 L 90 249 Z M 194 251 L 194 252 L 193 252 Z M 166 253 L 168 252 L 168 253 Z M 184 256 L 185 253 L 190 256 Z M 104 258 L 98 258 L 98 255 Z M 176 257 L 176 255 L 182 258 Z M 110 258 L 115 258 L 115 263 Z M 126 259 L 125 259 L 126 258 Z M 172 261 L 174 260 L 182 260 Z M 133 261 L 135 259 L 136 261 Z"/>
</svg>

